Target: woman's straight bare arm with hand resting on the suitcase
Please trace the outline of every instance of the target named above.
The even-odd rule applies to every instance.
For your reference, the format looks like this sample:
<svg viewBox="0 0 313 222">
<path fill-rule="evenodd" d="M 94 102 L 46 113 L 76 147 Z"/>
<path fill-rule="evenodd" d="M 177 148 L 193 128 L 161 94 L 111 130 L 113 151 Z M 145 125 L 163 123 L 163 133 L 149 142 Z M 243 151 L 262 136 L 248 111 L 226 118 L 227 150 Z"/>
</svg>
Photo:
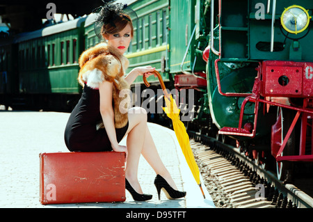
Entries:
<svg viewBox="0 0 313 222">
<path fill-rule="evenodd" d="M 109 81 L 103 81 L 101 84 L 99 84 L 100 113 L 102 116 L 104 127 L 106 129 L 106 134 L 108 134 L 113 151 L 127 153 L 126 146 L 118 145 L 118 141 L 116 139 L 114 111 L 112 106 L 112 93 L 113 83 Z"/>
</svg>

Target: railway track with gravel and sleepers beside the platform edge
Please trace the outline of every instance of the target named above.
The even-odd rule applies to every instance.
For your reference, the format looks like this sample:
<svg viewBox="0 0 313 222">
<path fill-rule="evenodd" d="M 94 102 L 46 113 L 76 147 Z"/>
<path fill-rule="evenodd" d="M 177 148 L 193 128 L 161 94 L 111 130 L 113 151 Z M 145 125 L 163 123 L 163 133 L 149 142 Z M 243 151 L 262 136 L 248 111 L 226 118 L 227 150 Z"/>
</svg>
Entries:
<svg viewBox="0 0 313 222">
<path fill-rule="evenodd" d="M 243 157 L 238 149 L 196 132 L 188 134 L 205 185 L 217 207 L 313 207 L 312 197 L 293 184 L 282 184 L 271 172 Z"/>
</svg>

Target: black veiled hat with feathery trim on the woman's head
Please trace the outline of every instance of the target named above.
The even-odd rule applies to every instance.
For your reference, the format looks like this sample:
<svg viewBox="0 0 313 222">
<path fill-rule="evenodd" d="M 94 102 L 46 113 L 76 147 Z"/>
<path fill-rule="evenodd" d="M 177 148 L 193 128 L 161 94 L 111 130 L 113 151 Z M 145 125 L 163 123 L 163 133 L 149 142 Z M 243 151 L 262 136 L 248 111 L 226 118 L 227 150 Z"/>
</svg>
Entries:
<svg viewBox="0 0 313 222">
<path fill-rule="evenodd" d="M 114 21 L 117 17 L 124 17 L 125 19 L 138 19 L 137 14 L 127 6 L 127 4 L 122 3 L 113 3 L 115 0 L 102 0 L 104 2 L 104 6 L 99 6 L 93 10 L 93 13 L 97 13 L 98 17 L 95 20 L 94 28 L 95 34 L 100 40 L 105 41 L 102 36 L 105 30 L 102 30 L 104 24 L 111 24 L 111 26 L 115 26 Z M 129 17 L 125 16 L 128 15 Z M 131 20 L 129 20 L 131 22 Z"/>
</svg>

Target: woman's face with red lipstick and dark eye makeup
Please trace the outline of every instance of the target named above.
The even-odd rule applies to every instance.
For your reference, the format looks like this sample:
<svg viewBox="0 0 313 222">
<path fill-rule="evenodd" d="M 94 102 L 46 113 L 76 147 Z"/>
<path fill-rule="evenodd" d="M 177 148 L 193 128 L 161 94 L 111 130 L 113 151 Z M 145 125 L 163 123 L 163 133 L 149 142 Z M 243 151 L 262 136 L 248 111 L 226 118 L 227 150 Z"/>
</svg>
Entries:
<svg viewBox="0 0 313 222">
<path fill-rule="evenodd" d="M 121 54 L 124 54 L 131 42 L 131 26 L 127 24 L 120 33 L 109 34 L 105 38 L 109 46 L 118 49 Z"/>
</svg>

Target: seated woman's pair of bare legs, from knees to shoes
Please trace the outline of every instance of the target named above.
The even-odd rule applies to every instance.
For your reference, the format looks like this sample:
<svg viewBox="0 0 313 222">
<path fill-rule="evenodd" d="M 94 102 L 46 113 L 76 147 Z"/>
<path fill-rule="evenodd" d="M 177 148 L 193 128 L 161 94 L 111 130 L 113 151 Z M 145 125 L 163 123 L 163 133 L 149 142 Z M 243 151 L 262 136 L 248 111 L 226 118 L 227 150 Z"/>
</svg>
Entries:
<svg viewBox="0 0 313 222">
<path fill-rule="evenodd" d="M 140 155 L 152 166 L 155 173 L 161 175 L 173 189 L 177 189 L 170 173 L 164 166 L 153 138 L 147 128 L 147 113 L 141 107 L 129 110 L 129 129 L 127 130 L 127 166 L 125 175 L 131 186 L 138 192 L 143 193 L 138 182 L 138 164 Z"/>
</svg>

